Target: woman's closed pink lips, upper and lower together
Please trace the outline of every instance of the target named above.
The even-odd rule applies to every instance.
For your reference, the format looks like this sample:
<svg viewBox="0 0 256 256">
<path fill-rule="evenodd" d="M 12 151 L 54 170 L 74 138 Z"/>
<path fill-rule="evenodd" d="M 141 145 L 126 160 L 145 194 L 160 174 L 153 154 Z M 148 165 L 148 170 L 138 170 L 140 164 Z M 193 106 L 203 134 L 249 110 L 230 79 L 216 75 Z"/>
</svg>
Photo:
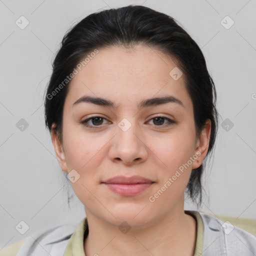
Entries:
<svg viewBox="0 0 256 256">
<path fill-rule="evenodd" d="M 142 192 L 151 186 L 154 181 L 142 176 L 115 176 L 102 183 L 115 193 L 123 196 L 131 196 Z"/>
</svg>

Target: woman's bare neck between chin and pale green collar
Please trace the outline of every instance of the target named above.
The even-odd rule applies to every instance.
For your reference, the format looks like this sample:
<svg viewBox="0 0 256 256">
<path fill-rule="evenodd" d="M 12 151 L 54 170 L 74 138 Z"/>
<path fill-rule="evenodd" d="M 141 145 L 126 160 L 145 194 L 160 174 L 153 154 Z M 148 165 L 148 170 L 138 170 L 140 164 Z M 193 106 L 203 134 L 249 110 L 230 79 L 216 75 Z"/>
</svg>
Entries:
<svg viewBox="0 0 256 256">
<path fill-rule="evenodd" d="M 196 221 L 184 209 L 172 210 L 143 228 L 122 233 L 118 226 L 86 212 L 89 233 L 84 241 L 86 256 L 92 255 L 187 255 L 193 256 Z"/>
</svg>

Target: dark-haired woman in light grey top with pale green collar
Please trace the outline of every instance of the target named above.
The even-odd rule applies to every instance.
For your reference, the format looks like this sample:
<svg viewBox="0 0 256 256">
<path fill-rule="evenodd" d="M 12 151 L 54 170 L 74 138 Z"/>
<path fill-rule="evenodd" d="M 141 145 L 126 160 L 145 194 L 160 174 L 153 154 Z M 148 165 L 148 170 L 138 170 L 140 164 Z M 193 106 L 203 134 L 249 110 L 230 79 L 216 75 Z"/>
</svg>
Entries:
<svg viewBox="0 0 256 256">
<path fill-rule="evenodd" d="M 86 217 L 39 230 L 16 255 L 255 255 L 252 234 L 184 210 L 184 192 L 201 203 L 215 102 L 173 18 L 129 5 L 82 19 L 54 59 L 45 123 Z"/>
</svg>

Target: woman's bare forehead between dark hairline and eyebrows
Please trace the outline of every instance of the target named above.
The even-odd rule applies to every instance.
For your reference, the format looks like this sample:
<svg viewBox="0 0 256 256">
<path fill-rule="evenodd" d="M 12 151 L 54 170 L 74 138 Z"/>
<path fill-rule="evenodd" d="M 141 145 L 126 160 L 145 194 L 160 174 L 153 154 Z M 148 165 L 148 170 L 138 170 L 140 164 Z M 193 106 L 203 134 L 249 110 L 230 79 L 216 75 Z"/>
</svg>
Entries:
<svg viewBox="0 0 256 256">
<path fill-rule="evenodd" d="M 77 69 L 67 97 L 75 101 L 89 94 L 137 100 L 170 94 L 181 97 L 182 101 L 189 100 L 183 75 L 173 79 L 170 75 L 173 68 L 178 68 L 175 60 L 152 47 L 100 48 L 80 70 Z"/>
</svg>

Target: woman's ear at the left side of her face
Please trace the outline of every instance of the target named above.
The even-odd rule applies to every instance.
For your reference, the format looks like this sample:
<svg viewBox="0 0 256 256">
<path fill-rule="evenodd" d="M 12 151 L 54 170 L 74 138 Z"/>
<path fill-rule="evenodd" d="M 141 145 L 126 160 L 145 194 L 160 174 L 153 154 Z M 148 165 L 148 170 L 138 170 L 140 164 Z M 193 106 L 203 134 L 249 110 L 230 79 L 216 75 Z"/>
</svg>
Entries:
<svg viewBox="0 0 256 256">
<path fill-rule="evenodd" d="M 65 172 L 67 172 L 67 166 L 66 166 L 66 160 L 65 160 L 65 153 L 63 150 L 63 146 L 59 141 L 59 138 L 56 134 L 56 131 L 54 129 L 54 125 L 51 126 L 51 141 L 55 150 L 56 158 L 58 160 L 58 164 L 61 167 L 61 169 Z"/>
</svg>

